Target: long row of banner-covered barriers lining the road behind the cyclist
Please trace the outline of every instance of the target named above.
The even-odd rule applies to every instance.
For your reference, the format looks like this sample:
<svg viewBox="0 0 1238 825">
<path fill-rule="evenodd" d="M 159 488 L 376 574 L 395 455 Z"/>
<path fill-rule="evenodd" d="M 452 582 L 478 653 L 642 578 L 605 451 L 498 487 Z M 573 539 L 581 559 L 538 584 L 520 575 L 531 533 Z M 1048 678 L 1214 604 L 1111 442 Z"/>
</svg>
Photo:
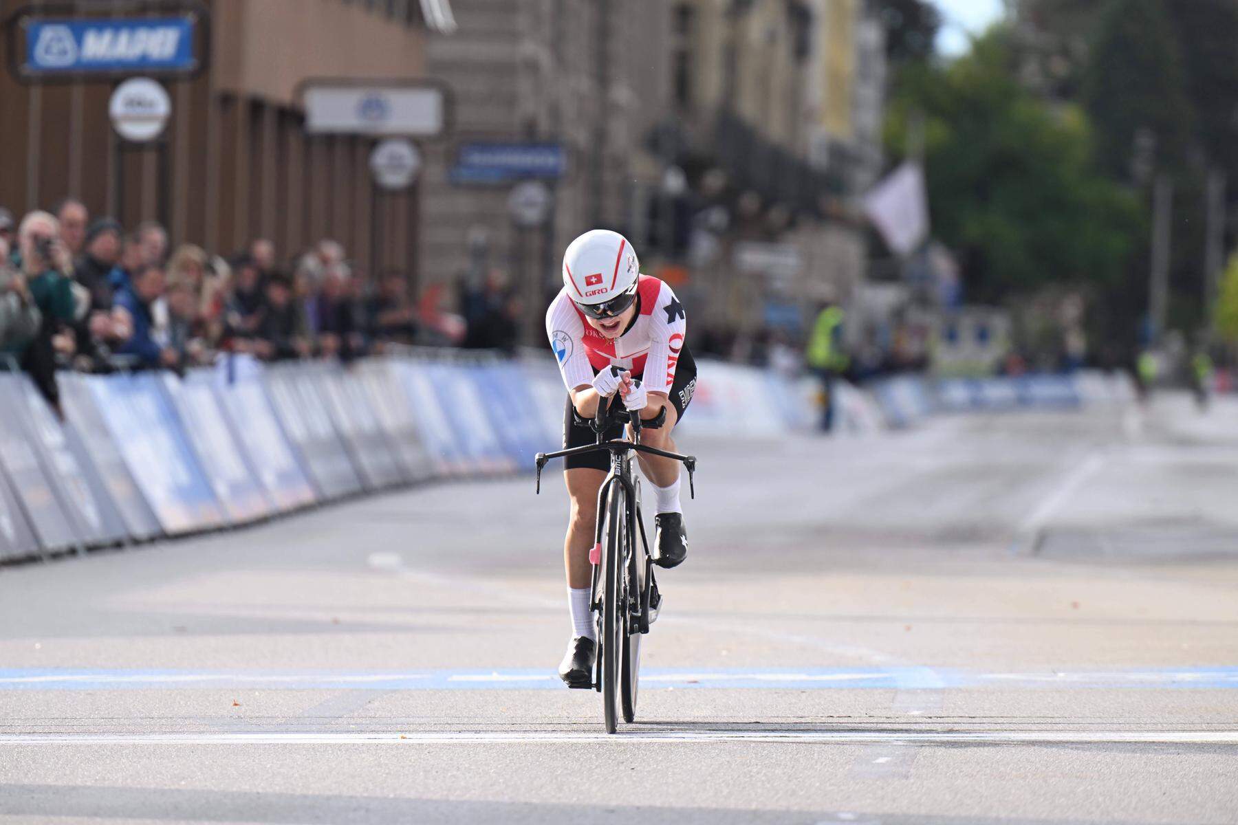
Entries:
<svg viewBox="0 0 1238 825">
<path fill-rule="evenodd" d="M 236 527 L 441 477 L 532 470 L 562 439 L 565 391 L 548 359 L 438 353 L 347 367 L 61 374 L 64 421 L 25 375 L 0 375 L 0 560 Z M 952 409 L 1118 400 L 1089 376 L 1015 382 L 898 377 L 872 392 L 836 382 L 842 432 L 901 427 Z M 807 430 L 820 386 L 699 362 L 687 434 Z M 884 419 L 883 419 L 884 417 Z"/>
</svg>

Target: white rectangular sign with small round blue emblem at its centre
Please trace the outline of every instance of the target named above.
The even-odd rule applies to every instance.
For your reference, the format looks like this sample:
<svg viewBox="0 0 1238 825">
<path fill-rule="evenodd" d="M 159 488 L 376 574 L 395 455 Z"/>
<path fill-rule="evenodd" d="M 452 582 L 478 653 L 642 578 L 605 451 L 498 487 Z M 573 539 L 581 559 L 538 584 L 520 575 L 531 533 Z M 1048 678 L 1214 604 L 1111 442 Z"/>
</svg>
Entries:
<svg viewBox="0 0 1238 825">
<path fill-rule="evenodd" d="M 443 90 L 433 85 L 332 85 L 305 90 L 311 135 L 433 137 L 446 127 Z"/>
</svg>

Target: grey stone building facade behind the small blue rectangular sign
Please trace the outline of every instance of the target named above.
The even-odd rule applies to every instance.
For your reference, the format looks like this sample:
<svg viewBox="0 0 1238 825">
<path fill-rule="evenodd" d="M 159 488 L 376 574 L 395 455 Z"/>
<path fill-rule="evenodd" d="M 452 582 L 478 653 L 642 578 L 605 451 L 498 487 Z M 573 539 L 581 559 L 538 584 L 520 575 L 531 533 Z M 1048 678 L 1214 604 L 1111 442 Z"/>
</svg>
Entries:
<svg viewBox="0 0 1238 825">
<path fill-rule="evenodd" d="M 626 230 L 634 188 L 659 172 L 644 141 L 666 111 L 665 0 L 453 0 L 457 28 L 428 43 L 426 69 L 452 90 L 451 141 L 426 147 L 421 218 L 427 284 L 506 281 L 522 303 L 526 343 L 545 338 L 547 293 L 572 237 Z M 539 228 L 509 210 L 516 182 L 462 183 L 462 143 L 551 143 L 567 166 L 547 181 Z"/>
</svg>

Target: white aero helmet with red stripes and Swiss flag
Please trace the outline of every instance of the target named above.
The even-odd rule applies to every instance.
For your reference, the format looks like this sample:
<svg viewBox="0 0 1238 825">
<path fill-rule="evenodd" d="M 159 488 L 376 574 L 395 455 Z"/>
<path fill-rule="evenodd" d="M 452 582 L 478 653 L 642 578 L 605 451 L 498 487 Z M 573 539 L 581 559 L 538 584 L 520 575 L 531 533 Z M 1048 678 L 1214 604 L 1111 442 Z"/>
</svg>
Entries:
<svg viewBox="0 0 1238 825">
<path fill-rule="evenodd" d="M 591 318 L 618 315 L 636 299 L 640 261 L 628 239 L 609 229 L 592 229 L 563 252 L 563 286 Z"/>
</svg>

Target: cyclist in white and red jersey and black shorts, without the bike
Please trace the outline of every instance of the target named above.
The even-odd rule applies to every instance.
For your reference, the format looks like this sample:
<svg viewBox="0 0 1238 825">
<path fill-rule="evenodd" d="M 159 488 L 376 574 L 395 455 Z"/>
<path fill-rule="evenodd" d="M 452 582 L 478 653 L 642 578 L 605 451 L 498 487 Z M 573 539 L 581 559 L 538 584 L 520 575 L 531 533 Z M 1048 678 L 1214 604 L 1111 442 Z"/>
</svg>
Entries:
<svg viewBox="0 0 1238 825">
<path fill-rule="evenodd" d="M 696 390 L 696 362 L 685 341 L 686 329 L 683 304 L 670 286 L 640 273 L 636 252 L 623 235 L 594 229 L 572 241 L 563 254 L 563 288 L 546 312 L 546 334 L 568 392 L 563 448 L 583 447 L 595 439 L 588 424 L 577 423 L 573 408 L 589 421 L 600 398 L 618 393 L 624 408 L 641 421 L 666 411 L 666 423 L 643 429 L 641 440 L 673 451 L 671 429 L 683 417 Z M 621 427 L 615 425 L 605 437 L 621 438 Z M 654 563 L 673 568 L 688 550 L 680 506 L 680 465 L 656 455 L 640 454 L 638 460 L 657 503 Z M 597 639 L 589 610 L 589 549 L 598 518 L 598 490 L 609 466 L 610 458 L 602 451 L 565 459 L 563 477 L 572 500 L 563 542 L 572 639 L 558 675 L 569 688 L 589 688 L 593 683 Z"/>
</svg>

